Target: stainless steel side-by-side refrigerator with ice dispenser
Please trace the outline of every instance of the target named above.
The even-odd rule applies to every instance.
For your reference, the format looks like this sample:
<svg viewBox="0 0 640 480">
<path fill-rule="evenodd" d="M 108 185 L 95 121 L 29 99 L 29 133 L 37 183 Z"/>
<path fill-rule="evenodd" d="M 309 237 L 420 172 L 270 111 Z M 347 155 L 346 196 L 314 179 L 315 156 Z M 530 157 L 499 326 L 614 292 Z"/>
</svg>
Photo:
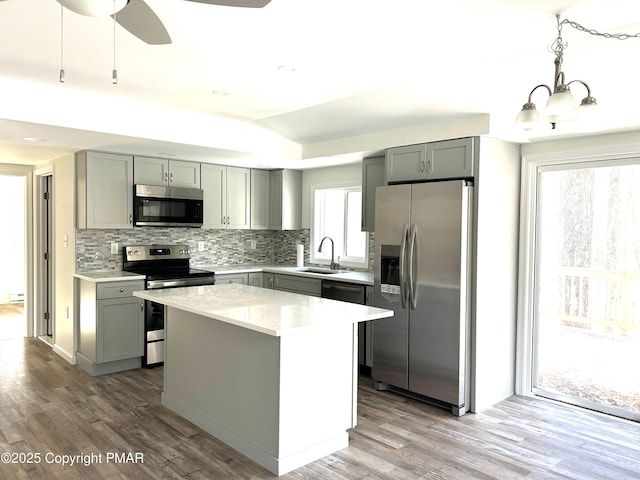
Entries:
<svg viewBox="0 0 640 480">
<path fill-rule="evenodd" d="M 469 410 L 472 189 L 465 180 L 376 189 L 376 388 Z"/>
</svg>

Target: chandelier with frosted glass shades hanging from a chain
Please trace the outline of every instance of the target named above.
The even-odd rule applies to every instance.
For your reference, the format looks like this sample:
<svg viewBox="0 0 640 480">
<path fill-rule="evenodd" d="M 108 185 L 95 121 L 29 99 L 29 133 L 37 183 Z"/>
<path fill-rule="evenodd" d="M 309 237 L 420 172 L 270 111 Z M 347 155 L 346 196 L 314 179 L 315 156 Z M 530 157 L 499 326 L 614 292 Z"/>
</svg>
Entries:
<svg viewBox="0 0 640 480">
<path fill-rule="evenodd" d="M 558 36 L 551 44 L 551 49 L 555 54 L 555 76 L 553 82 L 553 88 L 546 84 L 536 85 L 529 93 L 527 102 L 522 105 L 522 110 L 516 117 L 516 125 L 524 130 L 534 130 L 544 126 L 545 122 L 551 124 L 551 128 L 555 129 L 558 122 L 566 122 L 573 120 L 581 120 L 587 124 L 594 124 L 598 116 L 598 104 L 595 97 L 591 95 L 591 88 L 582 80 L 571 80 L 569 82 L 565 79 L 565 74 L 562 71 L 562 60 L 564 56 L 564 50 L 567 44 L 562 39 L 562 25 L 568 23 L 577 30 L 589 33 L 591 35 L 602 36 L 605 38 L 617 38 L 618 40 L 626 40 L 627 38 L 638 38 L 640 33 L 635 35 L 627 34 L 612 34 L 612 33 L 599 33 L 595 30 L 589 30 L 582 25 L 572 22 L 570 20 L 560 20 L 560 15 L 556 15 L 556 21 L 558 23 Z M 586 96 L 582 99 L 578 105 L 573 93 L 571 93 L 570 86 L 572 84 L 580 84 L 586 89 Z M 540 114 L 536 108 L 535 103 L 532 102 L 532 96 L 538 89 L 546 90 L 549 95 L 547 105 Z"/>
</svg>

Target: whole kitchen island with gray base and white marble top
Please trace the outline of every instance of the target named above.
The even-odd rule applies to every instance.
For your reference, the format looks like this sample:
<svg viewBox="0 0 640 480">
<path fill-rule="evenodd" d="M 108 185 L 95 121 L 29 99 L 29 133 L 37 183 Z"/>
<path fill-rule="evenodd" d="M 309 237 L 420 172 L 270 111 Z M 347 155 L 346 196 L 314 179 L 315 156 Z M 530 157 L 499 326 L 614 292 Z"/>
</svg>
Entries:
<svg viewBox="0 0 640 480">
<path fill-rule="evenodd" d="M 167 307 L 165 406 L 276 475 L 348 446 L 357 323 L 392 311 L 240 284 L 134 295 Z"/>
</svg>

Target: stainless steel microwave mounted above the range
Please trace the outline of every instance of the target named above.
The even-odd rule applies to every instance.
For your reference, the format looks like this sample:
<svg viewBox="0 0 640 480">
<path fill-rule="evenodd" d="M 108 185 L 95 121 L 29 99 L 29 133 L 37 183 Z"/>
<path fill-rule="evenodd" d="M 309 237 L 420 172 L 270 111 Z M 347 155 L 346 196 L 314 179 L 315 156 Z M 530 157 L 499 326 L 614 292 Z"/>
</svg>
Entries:
<svg viewBox="0 0 640 480">
<path fill-rule="evenodd" d="M 199 188 L 135 185 L 133 224 L 139 227 L 202 227 L 203 192 Z"/>
</svg>

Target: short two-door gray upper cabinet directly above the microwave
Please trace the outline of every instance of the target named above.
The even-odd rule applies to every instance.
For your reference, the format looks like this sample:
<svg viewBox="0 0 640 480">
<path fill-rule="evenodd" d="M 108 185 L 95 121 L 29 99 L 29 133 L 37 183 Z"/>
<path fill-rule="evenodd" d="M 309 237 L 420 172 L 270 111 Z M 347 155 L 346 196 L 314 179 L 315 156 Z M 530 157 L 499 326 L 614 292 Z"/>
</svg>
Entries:
<svg viewBox="0 0 640 480">
<path fill-rule="evenodd" d="M 135 157 L 134 183 L 200 188 L 200 164 L 164 158 Z"/>
</svg>

